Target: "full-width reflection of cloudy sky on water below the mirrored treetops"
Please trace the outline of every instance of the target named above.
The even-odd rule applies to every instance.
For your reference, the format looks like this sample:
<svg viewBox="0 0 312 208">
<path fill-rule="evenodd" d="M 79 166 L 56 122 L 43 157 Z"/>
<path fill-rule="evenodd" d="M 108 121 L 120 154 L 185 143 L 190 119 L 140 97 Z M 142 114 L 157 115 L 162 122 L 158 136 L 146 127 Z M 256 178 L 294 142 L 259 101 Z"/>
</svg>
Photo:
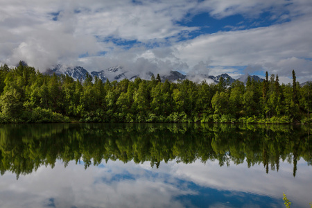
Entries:
<svg viewBox="0 0 312 208">
<path fill-rule="evenodd" d="M 41 207 L 51 203 L 55 207 L 183 207 L 202 194 L 241 199 L 252 196 L 261 200 L 262 196 L 281 199 L 285 192 L 293 205 L 304 207 L 309 205 L 306 200 L 311 200 L 312 182 L 311 166 L 302 163 L 298 162 L 300 170 L 294 178 L 293 166 L 284 163 L 280 164 L 279 173 L 266 174 L 262 165 L 247 168 L 246 164 L 232 164 L 227 168 L 218 166 L 218 162 L 172 161 L 157 169 L 151 168 L 149 162 L 109 161 L 86 170 L 74 162 L 66 168 L 57 162 L 53 169 L 42 166 L 31 175 L 21 175 L 19 180 L 12 173 L 2 175 L 0 202 L 1 207 Z M 219 203 L 227 207 L 226 202 L 209 200 L 211 207 Z"/>
</svg>

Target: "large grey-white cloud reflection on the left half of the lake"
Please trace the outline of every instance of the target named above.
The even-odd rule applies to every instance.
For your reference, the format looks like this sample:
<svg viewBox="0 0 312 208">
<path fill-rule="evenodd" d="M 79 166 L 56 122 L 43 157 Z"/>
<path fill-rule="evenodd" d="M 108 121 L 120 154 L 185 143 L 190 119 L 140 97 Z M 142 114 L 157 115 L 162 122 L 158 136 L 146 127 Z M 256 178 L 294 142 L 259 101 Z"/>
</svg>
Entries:
<svg viewBox="0 0 312 208">
<path fill-rule="evenodd" d="M 116 179 L 123 175 L 123 179 Z M 127 175 L 135 180 L 127 179 Z M 72 162 L 63 168 L 57 162 L 53 169 L 42 166 L 19 180 L 10 173 L 0 179 L 1 207 L 41 207 L 51 199 L 55 207 L 182 207 L 174 197 L 194 193 L 178 188 L 176 180 L 165 182 L 164 174 L 146 174 L 133 162 L 108 162 L 87 170 Z"/>
</svg>

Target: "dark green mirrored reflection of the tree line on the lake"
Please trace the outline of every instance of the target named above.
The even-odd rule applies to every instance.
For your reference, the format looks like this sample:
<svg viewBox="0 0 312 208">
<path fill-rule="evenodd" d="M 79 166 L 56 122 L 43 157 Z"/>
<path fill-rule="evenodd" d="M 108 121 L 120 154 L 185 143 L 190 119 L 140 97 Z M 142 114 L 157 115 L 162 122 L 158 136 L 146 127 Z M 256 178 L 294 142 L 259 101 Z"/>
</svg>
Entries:
<svg viewBox="0 0 312 208">
<path fill-rule="evenodd" d="M 279 160 L 293 162 L 293 175 L 301 157 L 311 164 L 312 140 L 309 127 L 291 125 L 216 124 L 51 124 L 0 125 L 0 171 L 19 177 L 42 165 L 65 166 L 82 160 L 85 168 L 103 159 L 149 161 L 157 168 L 175 159 L 192 163 L 217 159 L 220 166 L 230 162 L 263 164 L 279 171 Z"/>
</svg>

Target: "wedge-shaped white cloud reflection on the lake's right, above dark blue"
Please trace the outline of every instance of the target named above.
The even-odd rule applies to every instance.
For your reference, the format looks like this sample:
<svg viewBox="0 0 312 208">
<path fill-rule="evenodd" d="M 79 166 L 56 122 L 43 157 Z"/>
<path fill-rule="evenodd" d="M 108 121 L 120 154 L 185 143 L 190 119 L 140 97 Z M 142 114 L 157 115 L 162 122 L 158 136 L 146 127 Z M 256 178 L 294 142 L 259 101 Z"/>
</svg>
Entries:
<svg viewBox="0 0 312 208">
<path fill-rule="evenodd" d="M 293 177 L 293 165 L 281 163 L 279 172 L 270 171 L 266 174 L 263 164 L 246 168 L 247 164 L 220 167 L 218 162 L 207 162 L 205 168 L 199 161 L 193 164 L 168 164 L 172 166 L 171 173 L 206 187 L 222 190 L 256 193 L 259 196 L 282 198 L 283 192 L 292 198 L 294 205 L 306 207 L 311 200 L 311 171 L 312 167 L 300 165 L 296 177 Z M 304 162 L 298 162 L 302 164 Z M 162 165 L 164 166 L 164 165 Z M 299 167 L 299 166 L 297 166 Z M 204 170 L 203 170 L 204 169 Z M 298 191 L 300 190 L 300 193 Z"/>
</svg>

